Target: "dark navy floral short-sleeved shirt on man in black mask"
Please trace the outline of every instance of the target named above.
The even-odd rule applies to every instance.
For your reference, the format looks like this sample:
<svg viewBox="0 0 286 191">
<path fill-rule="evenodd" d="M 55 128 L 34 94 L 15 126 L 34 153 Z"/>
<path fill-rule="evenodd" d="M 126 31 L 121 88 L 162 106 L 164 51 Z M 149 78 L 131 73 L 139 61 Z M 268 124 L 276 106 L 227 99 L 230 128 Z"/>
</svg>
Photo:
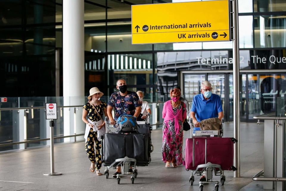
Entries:
<svg viewBox="0 0 286 191">
<path fill-rule="evenodd" d="M 127 91 L 126 96 L 121 96 L 118 91 L 111 94 L 108 105 L 114 107 L 114 120 L 117 121 L 117 118 L 120 115 L 134 115 L 136 111 L 135 108 L 141 106 L 142 103 L 139 101 L 139 97 L 136 92 Z"/>
</svg>

